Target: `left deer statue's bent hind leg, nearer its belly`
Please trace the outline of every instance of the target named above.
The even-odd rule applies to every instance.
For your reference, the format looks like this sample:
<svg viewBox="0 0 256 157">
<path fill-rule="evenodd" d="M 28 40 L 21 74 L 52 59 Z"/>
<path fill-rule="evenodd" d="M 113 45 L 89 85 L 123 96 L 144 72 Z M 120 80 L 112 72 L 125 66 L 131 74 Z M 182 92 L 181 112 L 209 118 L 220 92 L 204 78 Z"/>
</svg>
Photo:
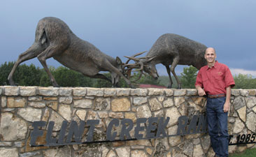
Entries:
<svg viewBox="0 0 256 157">
<path fill-rule="evenodd" d="M 55 78 L 53 77 L 52 73 L 50 73 L 50 70 L 46 64 L 46 59 L 49 59 L 50 57 L 55 56 L 59 52 L 62 52 L 61 47 L 62 45 L 50 45 L 49 47 L 46 48 L 45 51 L 43 51 L 41 54 L 37 56 L 38 60 L 41 62 L 43 68 L 45 69 L 46 73 L 50 77 L 50 81 L 52 82 L 53 87 L 59 87 L 59 84 L 55 81 Z"/>
</svg>

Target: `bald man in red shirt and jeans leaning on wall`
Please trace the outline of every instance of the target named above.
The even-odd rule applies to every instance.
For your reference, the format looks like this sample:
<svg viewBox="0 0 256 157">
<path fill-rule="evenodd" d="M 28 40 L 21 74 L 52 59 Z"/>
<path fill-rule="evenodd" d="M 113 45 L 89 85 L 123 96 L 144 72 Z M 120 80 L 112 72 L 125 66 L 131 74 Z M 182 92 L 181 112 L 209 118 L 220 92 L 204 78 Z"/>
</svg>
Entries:
<svg viewBox="0 0 256 157">
<path fill-rule="evenodd" d="M 207 96 L 208 132 L 215 156 L 228 156 L 227 113 L 230 107 L 231 88 L 235 82 L 229 68 L 215 60 L 214 48 L 208 47 L 204 58 L 207 65 L 199 70 L 195 87 L 199 96 Z"/>
</svg>

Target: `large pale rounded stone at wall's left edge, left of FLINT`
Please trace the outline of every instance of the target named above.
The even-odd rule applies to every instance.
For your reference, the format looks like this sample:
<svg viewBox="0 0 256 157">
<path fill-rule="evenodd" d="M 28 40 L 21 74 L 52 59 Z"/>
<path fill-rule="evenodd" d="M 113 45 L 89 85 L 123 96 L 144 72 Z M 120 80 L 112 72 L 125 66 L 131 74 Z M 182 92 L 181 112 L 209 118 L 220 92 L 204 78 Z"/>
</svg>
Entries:
<svg viewBox="0 0 256 157">
<path fill-rule="evenodd" d="M 27 134 L 27 124 L 24 120 L 13 117 L 11 113 L 1 113 L 1 141 L 24 140 Z"/>
</svg>

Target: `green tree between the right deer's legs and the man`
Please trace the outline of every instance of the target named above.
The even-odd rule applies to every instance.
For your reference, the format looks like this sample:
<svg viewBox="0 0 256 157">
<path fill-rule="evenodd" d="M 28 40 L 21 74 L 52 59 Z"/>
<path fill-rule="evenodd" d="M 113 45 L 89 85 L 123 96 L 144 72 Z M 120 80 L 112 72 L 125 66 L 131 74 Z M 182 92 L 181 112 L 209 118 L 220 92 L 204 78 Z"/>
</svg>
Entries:
<svg viewBox="0 0 256 157">
<path fill-rule="evenodd" d="M 194 89 L 194 84 L 197 80 L 197 68 L 194 66 L 189 66 L 183 68 L 183 73 L 181 73 L 181 84 L 185 89 Z"/>
</svg>

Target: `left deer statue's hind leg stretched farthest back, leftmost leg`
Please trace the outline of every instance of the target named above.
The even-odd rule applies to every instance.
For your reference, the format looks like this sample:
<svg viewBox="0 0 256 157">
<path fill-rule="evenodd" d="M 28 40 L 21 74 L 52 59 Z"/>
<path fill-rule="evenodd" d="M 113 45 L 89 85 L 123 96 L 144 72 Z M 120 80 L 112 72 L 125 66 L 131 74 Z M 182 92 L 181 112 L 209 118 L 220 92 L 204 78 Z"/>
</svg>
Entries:
<svg viewBox="0 0 256 157">
<path fill-rule="evenodd" d="M 11 86 L 15 86 L 15 82 L 13 81 L 13 74 L 15 73 L 17 66 L 19 66 L 20 63 L 24 61 L 35 58 L 42 51 L 42 48 L 38 46 L 37 43 L 34 43 L 31 47 L 29 47 L 27 51 L 19 55 L 17 61 L 15 61 L 13 69 L 10 71 L 10 74 L 8 75 L 8 82 Z"/>
</svg>

